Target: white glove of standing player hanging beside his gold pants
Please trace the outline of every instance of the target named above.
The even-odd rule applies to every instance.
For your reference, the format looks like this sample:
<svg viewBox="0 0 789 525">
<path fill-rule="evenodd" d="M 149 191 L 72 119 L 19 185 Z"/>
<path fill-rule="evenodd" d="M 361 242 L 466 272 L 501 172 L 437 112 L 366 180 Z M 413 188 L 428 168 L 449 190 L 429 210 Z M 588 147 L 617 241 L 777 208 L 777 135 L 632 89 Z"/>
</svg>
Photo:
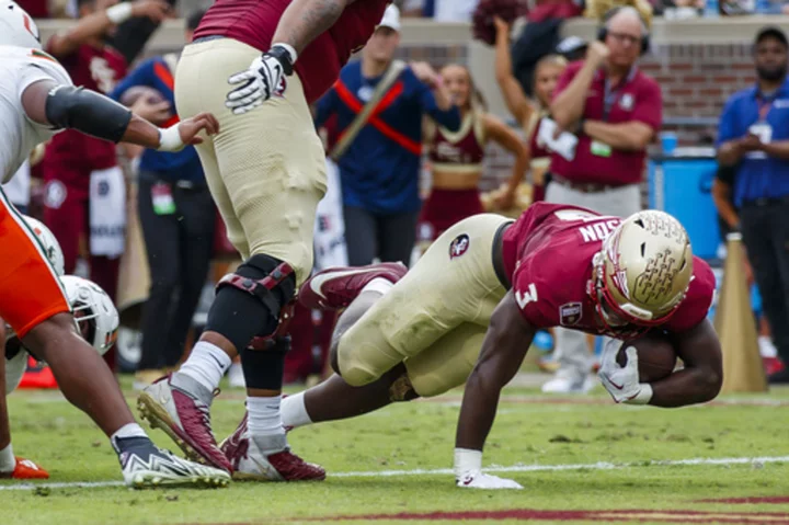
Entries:
<svg viewBox="0 0 789 525">
<path fill-rule="evenodd" d="M 295 53 L 295 52 L 294 52 Z M 274 94 L 285 92 L 285 77 L 293 75 L 294 54 L 283 45 L 274 45 L 271 50 L 252 60 L 249 69 L 228 79 L 236 85 L 225 105 L 236 115 L 258 107 Z"/>
</svg>

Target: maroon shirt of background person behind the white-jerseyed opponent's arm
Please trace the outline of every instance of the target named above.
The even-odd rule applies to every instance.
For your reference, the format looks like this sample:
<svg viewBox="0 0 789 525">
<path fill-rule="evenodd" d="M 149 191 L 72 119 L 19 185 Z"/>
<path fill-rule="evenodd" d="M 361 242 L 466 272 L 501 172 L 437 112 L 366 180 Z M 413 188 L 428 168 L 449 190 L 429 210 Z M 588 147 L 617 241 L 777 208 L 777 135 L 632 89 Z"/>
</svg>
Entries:
<svg viewBox="0 0 789 525">
<path fill-rule="evenodd" d="M 59 61 L 75 85 L 100 93 L 108 93 L 126 76 L 126 60 L 107 46 L 99 49 L 82 45 L 69 56 L 60 57 Z M 116 164 L 114 144 L 67 129 L 55 135 L 47 145 L 43 170 L 45 179 L 58 179 L 87 194 L 90 172 Z"/>
</svg>

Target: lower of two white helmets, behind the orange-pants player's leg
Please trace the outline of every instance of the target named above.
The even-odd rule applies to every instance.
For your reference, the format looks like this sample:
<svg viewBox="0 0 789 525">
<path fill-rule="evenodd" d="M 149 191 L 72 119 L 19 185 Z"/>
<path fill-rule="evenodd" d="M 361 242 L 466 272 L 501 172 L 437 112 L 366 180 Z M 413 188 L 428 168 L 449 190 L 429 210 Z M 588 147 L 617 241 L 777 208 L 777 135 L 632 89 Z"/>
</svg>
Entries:
<svg viewBox="0 0 789 525">
<path fill-rule="evenodd" d="M 115 305 L 98 284 L 76 275 L 64 275 L 60 282 L 71 304 L 77 331 L 99 354 L 115 344 L 119 318 Z"/>
</svg>

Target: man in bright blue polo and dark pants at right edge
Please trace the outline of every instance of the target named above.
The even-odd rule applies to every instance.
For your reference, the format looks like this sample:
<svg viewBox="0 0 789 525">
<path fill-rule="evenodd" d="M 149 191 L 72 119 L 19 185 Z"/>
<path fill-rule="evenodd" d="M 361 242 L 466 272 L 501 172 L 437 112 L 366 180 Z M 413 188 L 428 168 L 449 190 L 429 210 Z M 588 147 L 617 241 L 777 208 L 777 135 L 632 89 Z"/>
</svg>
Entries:
<svg viewBox="0 0 789 525">
<path fill-rule="evenodd" d="M 773 341 L 789 363 L 789 84 L 786 34 L 756 35 L 757 82 L 733 94 L 721 114 L 718 160 L 735 166 L 734 204 Z M 789 383 L 789 370 L 769 376 Z"/>
</svg>

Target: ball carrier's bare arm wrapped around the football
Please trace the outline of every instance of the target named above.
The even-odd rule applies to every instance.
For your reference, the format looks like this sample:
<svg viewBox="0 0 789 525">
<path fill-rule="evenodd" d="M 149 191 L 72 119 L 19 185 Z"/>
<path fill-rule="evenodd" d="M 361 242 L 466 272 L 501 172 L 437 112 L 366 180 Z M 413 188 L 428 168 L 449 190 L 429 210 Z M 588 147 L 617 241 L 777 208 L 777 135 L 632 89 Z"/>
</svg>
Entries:
<svg viewBox="0 0 789 525">
<path fill-rule="evenodd" d="M 705 319 L 670 338 L 685 368 L 653 383 L 649 404 L 673 408 L 714 399 L 723 383 L 723 361 L 712 324 Z"/>
</svg>

